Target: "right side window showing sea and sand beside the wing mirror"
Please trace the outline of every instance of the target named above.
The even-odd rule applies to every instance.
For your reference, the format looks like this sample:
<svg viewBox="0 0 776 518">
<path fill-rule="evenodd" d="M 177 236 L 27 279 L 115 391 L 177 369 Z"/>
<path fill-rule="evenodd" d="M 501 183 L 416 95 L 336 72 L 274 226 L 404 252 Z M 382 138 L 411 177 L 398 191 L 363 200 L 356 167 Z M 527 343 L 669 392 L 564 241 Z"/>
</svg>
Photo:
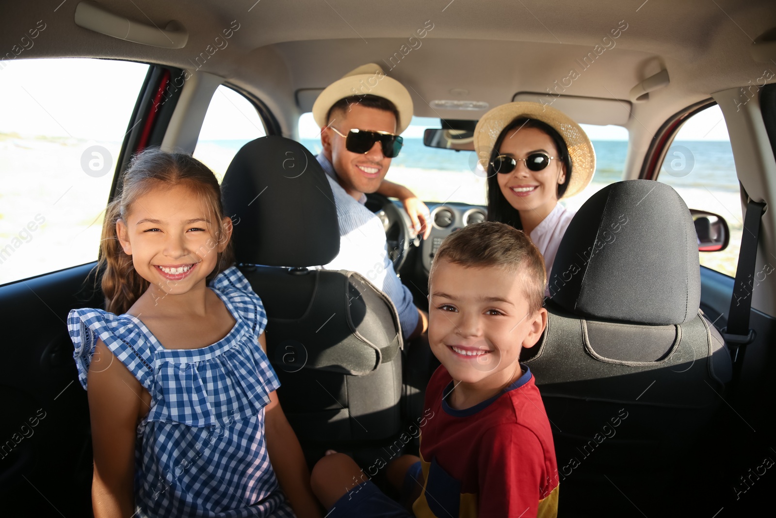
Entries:
<svg viewBox="0 0 776 518">
<path fill-rule="evenodd" d="M 658 179 L 674 187 L 691 209 L 725 218 L 730 244 L 721 252 L 700 252 L 701 264 L 736 276 L 743 232 L 740 187 L 719 106 L 711 106 L 684 122 L 668 148 Z"/>
</svg>

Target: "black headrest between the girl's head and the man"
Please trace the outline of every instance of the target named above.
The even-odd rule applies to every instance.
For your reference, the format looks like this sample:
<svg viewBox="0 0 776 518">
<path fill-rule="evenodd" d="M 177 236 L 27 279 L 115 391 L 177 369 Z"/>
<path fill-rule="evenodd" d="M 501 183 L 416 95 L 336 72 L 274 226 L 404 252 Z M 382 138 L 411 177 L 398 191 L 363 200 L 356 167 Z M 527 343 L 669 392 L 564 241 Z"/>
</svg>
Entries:
<svg viewBox="0 0 776 518">
<path fill-rule="evenodd" d="M 245 144 L 221 184 L 234 220 L 237 262 L 320 266 L 339 253 L 337 208 L 326 173 L 310 151 L 288 138 Z"/>
</svg>

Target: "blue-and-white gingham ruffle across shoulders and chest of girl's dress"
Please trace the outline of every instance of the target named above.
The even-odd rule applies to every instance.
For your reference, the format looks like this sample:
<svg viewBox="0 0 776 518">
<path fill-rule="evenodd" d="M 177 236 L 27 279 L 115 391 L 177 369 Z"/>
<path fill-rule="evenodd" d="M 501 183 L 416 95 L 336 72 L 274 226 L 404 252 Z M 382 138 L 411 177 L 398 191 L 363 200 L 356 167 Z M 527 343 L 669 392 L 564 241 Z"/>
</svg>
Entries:
<svg viewBox="0 0 776 518">
<path fill-rule="evenodd" d="M 237 322 L 223 339 L 193 349 L 165 349 L 131 315 L 71 311 L 68 329 L 84 388 L 97 339 L 102 339 L 151 394 L 144 422 L 228 426 L 262 412 L 269 394 L 280 386 L 258 343 L 267 325 L 262 299 L 236 267 L 220 273 L 210 287 Z"/>
</svg>

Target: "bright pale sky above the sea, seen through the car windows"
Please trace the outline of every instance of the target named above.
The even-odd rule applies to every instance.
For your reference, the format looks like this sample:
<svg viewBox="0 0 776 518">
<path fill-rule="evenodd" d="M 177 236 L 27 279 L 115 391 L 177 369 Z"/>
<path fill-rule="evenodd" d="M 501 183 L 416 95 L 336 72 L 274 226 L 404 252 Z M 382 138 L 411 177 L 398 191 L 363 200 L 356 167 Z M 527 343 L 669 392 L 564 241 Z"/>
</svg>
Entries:
<svg viewBox="0 0 776 518">
<path fill-rule="evenodd" d="M 147 65 L 95 59 L 3 61 L 0 99 L 5 99 L 0 132 L 48 137 L 74 136 L 96 141 L 121 141 L 146 75 Z M 203 140 L 252 139 L 260 121 L 251 105 L 236 92 L 221 87 L 211 101 Z M 581 125 L 591 140 L 626 141 L 619 126 Z M 413 117 L 404 137 L 422 137 L 425 127 L 439 120 Z M 300 118 L 300 137 L 317 138 L 312 114 Z M 694 116 L 676 140 L 729 140 L 719 106 Z"/>
</svg>

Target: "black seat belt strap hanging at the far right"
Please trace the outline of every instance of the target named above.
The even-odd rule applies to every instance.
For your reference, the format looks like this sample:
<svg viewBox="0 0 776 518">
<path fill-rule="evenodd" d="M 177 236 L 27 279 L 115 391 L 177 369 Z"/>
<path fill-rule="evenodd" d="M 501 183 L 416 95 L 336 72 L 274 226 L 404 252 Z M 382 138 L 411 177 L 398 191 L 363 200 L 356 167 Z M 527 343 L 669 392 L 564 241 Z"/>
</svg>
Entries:
<svg viewBox="0 0 776 518">
<path fill-rule="evenodd" d="M 727 328 L 723 329 L 723 336 L 730 348 L 734 365 L 740 365 L 743 362 L 743 346 L 754 340 L 754 331 L 749 328 L 749 317 L 752 309 L 754 268 L 757 262 L 757 241 L 760 237 L 760 222 L 764 209 L 764 202 L 749 200 L 747 215 L 743 220 L 743 235 L 736 280 L 733 283 L 733 298 L 730 300 Z"/>
</svg>

